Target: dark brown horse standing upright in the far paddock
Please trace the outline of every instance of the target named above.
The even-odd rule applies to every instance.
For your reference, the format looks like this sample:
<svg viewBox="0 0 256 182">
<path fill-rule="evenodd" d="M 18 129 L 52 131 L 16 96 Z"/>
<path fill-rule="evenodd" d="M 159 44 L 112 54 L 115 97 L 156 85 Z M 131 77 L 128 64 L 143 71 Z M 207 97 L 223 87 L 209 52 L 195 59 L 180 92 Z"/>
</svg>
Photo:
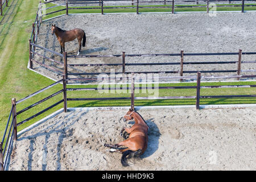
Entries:
<svg viewBox="0 0 256 182">
<path fill-rule="evenodd" d="M 52 30 L 52 35 L 55 34 L 57 36 L 57 39 L 60 43 L 61 53 L 65 52 L 65 42 L 69 42 L 75 39 L 77 39 L 79 42 L 79 51 L 77 52 L 77 55 L 79 55 L 81 51 L 81 42 L 82 42 L 82 47 L 85 47 L 86 36 L 85 36 L 85 32 L 82 29 L 75 28 L 73 30 L 66 31 L 55 26 L 55 24 L 52 24 L 51 30 Z"/>
</svg>

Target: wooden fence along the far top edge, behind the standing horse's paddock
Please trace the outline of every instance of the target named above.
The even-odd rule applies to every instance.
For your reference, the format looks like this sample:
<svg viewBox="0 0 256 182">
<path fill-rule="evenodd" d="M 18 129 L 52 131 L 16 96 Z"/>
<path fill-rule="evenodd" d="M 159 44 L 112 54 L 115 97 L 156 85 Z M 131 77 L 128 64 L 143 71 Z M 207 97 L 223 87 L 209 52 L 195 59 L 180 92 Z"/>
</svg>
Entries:
<svg viewBox="0 0 256 182">
<path fill-rule="evenodd" d="M 55 0 L 57 1 L 57 0 Z M 44 2 L 43 4 L 47 4 L 47 3 L 54 3 L 55 1 L 48 1 L 48 2 Z M 47 7 L 46 9 L 51 9 L 53 7 L 58 7 L 58 6 L 65 6 L 65 8 L 60 9 L 60 10 L 56 10 L 56 11 L 52 11 L 46 14 L 43 14 L 43 16 L 46 15 L 50 15 L 53 13 L 58 13 L 60 11 L 65 11 L 65 14 L 68 15 L 69 10 L 89 10 L 89 9 L 101 9 L 101 14 L 104 14 L 104 9 L 135 9 L 134 4 L 136 4 L 136 12 L 137 14 L 139 14 L 139 9 L 149 9 L 149 8 L 159 8 L 159 9 L 170 9 L 170 12 L 172 14 L 175 13 L 175 9 L 179 9 L 179 8 L 200 8 L 200 7 L 205 7 L 206 8 L 206 12 L 209 13 L 209 9 L 213 7 L 212 4 L 210 3 L 216 3 L 216 7 L 241 7 L 241 12 L 244 13 L 245 11 L 245 7 L 252 7 L 252 6 L 256 6 L 256 5 L 247 5 L 245 2 L 250 2 L 250 1 L 255 1 L 255 0 L 223 0 L 223 1 L 218 1 L 218 0 L 201 0 L 201 1 L 180 1 L 180 0 L 162 0 L 162 1 L 139 1 L 139 0 L 66 0 L 66 3 L 60 4 L 60 5 L 55 5 L 52 7 Z M 109 2 L 115 2 L 115 3 L 131 3 L 131 6 L 119 6 L 119 5 L 114 5 L 112 7 L 109 6 L 104 6 L 104 4 L 107 4 Z M 184 2 L 184 3 L 192 3 L 195 2 L 195 5 L 175 5 L 175 2 Z M 203 2 L 206 3 L 205 5 L 199 5 L 199 2 Z M 241 2 L 241 5 L 217 5 L 217 3 L 220 2 Z M 161 5 L 144 5 L 144 6 L 139 6 L 139 5 L 143 5 L 145 3 L 161 3 L 161 5 L 163 4 L 163 6 Z M 169 3 L 169 5 L 167 6 L 167 3 Z M 99 7 L 72 7 L 69 5 L 92 5 L 92 4 L 98 4 Z M 46 10 L 44 9 L 44 10 Z"/>
</svg>

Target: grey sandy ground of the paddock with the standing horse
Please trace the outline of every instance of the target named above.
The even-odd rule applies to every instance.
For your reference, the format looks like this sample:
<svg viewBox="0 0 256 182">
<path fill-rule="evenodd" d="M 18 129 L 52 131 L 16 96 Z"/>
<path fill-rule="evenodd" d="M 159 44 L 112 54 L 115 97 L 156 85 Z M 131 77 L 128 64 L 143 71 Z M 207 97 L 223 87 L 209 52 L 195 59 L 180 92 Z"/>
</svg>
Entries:
<svg viewBox="0 0 256 182">
<path fill-rule="evenodd" d="M 121 55 L 141 53 L 205 53 L 205 52 L 255 52 L 256 13 L 217 13 L 209 16 L 202 13 L 189 14 L 106 14 L 106 15 L 69 15 L 47 20 L 40 27 L 38 43 L 40 46 L 60 51 L 59 42 L 51 35 L 51 24 L 72 30 L 82 28 L 86 33 L 86 46 L 81 54 Z M 68 55 L 78 51 L 77 40 L 65 44 Z M 59 56 L 36 49 L 39 53 L 52 57 Z M 255 55 L 243 55 L 242 61 L 254 61 Z M 61 65 L 40 59 L 63 72 Z M 228 56 L 185 56 L 185 61 L 237 61 L 238 55 Z M 180 56 L 172 57 L 126 57 L 126 63 L 163 63 L 180 62 Z M 122 63 L 122 57 L 68 59 L 68 64 Z M 61 75 L 36 65 L 34 69 L 59 80 Z M 75 67 L 68 72 L 121 72 L 121 66 L 115 67 Z M 184 71 L 237 70 L 237 64 L 201 64 L 184 65 Z M 256 69 L 256 64 L 242 64 L 242 69 Z M 179 71 L 179 65 L 126 66 L 127 72 L 133 71 Z M 253 72 L 242 72 L 252 75 Z M 159 74 L 167 76 L 167 74 Z M 195 75 L 195 73 L 185 75 Z M 202 75 L 236 75 L 235 73 L 202 73 Z M 169 74 L 179 76 L 179 73 Z"/>
</svg>

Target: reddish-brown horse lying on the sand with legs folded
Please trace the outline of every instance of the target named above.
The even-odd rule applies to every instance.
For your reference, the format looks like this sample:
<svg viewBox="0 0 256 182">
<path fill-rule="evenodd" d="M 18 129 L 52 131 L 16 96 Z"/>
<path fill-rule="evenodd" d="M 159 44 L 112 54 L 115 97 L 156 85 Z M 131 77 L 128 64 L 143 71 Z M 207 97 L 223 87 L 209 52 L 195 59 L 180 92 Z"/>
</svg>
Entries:
<svg viewBox="0 0 256 182">
<path fill-rule="evenodd" d="M 104 144 L 105 147 L 110 147 L 110 152 L 120 152 L 122 153 L 121 163 L 123 166 L 129 166 L 127 164 L 127 158 L 126 156 L 138 156 L 144 153 L 144 151 L 147 149 L 147 131 L 148 131 L 148 125 L 144 121 L 144 119 L 141 117 L 139 113 L 136 111 L 130 109 L 126 115 L 123 117 L 123 121 L 129 121 L 134 118 L 135 124 L 130 128 L 123 128 L 121 130 L 120 135 L 122 136 L 123 131 L 125 130 L 127 134 L 129 134 L 129 138 L 126 140 L 119 142 L 117 144 Z M 121 148 L 120 146 L 126 146 L 127 148 Z"/>
</svg>

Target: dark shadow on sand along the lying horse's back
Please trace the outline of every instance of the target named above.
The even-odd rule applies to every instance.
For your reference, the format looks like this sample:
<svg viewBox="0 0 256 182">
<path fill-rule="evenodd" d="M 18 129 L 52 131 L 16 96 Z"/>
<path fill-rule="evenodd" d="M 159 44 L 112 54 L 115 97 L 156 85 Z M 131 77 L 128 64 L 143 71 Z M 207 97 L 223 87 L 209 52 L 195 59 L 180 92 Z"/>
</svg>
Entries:
<svg viewBox="0 0 256 182">
<path fill-rule="evenodd" d="M 155 153 L 158 150 L 159 146 L 159 138 L 160 138 L 160 131 L 156 123 L 154 122 L 154 118 L 145 120 L 149 129 L 148 129 L 148 142 L 147 142 L 147 149 L 144 154 L 141 155 L 141 159 L 147 158 Z M 134 125 L 134 121 L 130 121 L 129 124 Z"/>
</svg>

